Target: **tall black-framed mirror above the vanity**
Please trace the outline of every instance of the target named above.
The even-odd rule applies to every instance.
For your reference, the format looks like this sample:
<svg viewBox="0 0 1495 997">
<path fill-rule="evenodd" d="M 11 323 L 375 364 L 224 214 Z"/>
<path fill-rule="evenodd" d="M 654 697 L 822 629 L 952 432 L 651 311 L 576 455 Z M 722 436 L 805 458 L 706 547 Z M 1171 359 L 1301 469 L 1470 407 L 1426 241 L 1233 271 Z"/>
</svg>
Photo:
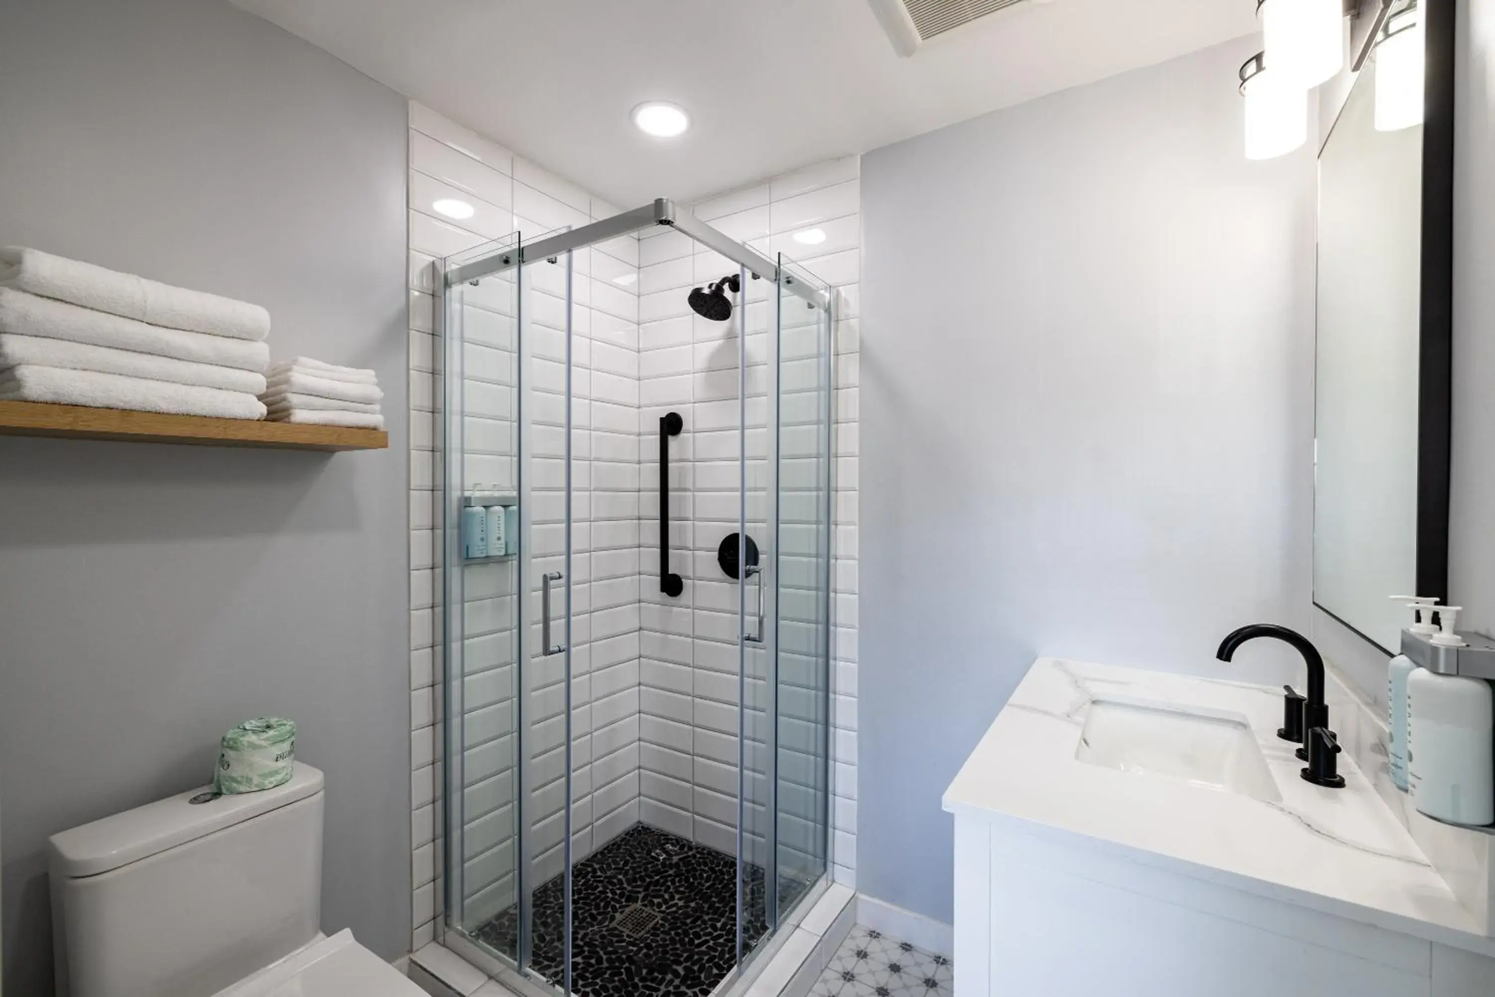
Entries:
<svg viewBox="0 0 1495 997">
<path fill-rule="evenodd" d="M 1314 604 L 1390 653 L 1447 598 L 1453 3 L 1365 4 L 1319 152 Z"/>
</svg>

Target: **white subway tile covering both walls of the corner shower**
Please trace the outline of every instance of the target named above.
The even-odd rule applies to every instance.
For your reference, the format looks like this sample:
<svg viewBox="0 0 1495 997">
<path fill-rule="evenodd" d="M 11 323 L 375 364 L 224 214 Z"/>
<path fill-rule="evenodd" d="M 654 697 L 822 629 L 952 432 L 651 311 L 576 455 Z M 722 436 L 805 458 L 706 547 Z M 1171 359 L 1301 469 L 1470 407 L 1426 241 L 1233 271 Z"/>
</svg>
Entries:
<svg viewBox="0 0 1495 997">
<path fill-rule="evenodd" d="M 411 839 L 413 948 L 435 936 L 443 895 L 443 547 L 440 537 L 443 345 L 435 263 L 493 239 L 526 238 L 616 214 L 498 143 L 410 105 L 410 529 L 411 529 Z M 855 870 L 857 602 L 857 158 L 837 160 L 697 206 L 764 253 L 782 248 L 840 287 L 834 329 L 834 568 L 831 602 L 833 862 Z M 466 218 L 434 209 L 443 199 Z M 794 232 L 815 226 L 806 245 Z M 685 248 L 682 248 L 682 245 Z M 733 269 L 673 232 L 634 236 L 573 260 L 573 845 L 589 854 L 644 821 L 731 852 L 736 810 L 736 586 L 715 565 L 719 528 L 736 523 L 736 339 L 680 314 L 691 285 Z M 719 272 L 718 272 L 719 271 Z M 559 570 L 564 472 L 564 280 L 561 266 L 526 269 L 532 342 L 534 571 Z M 465 287 L 460 320 L 468 487 L 514 484 L 514 299 L 510 278 Z M 765 297 L 765 296 L 759 296 Z M 765 329 L 770 300 L 749 305 L 749 457 L 765 457 Z M 643 323 L 643 324 L 640 324 Z M 752 330 L 758 330 L 753 335 Z M 658 565 L 658 414 L 680 408 L 674 438 L 673 549 L 686 578 L 665 599 Z M 755 474 L 750 471 L 750 474 Z M 759 481 L 759 478 L 753 478 Z M 649 486 L 641 486 L 647 481 Z M 759 519 L 759 493 L 749 516 Z M 736 526 L 733 526 L 736 529 Z M 700 535 L 697 535 L 700 531 Z M 730 532 L 730 531 L 728 531 Z M 749 529 L 752 532 L 752 528 Z M 689 556 L 686 555 L 689 552 Z M 715 578 L 710 574 L 715 571 Z M 697 581 L 700 578 L 700 581 Z M 540 876 L 559 871 L 564 797 L 564 659 L 535 658 L 525 689 L 513 670 L 517 565 L 468 565 L 463 584 L 463 894 L 475 927 L 513 900 L 514 719 L 528 697 L 537 773 L 534 836 Z M 531 586 L 529 598 L 538 596 Z M 537 628 L 538 629 L 538 628 Z M 538 632 L 534 634 L 538 644 Z M 756 668 L 749 664 L 749 674 Z M 756 694 L 750 694 L 756 695 Z M 752 703 L 752 701 L 750 701 Z M 753 798 L 752 795 L 749 798 Z"/>
</svg>

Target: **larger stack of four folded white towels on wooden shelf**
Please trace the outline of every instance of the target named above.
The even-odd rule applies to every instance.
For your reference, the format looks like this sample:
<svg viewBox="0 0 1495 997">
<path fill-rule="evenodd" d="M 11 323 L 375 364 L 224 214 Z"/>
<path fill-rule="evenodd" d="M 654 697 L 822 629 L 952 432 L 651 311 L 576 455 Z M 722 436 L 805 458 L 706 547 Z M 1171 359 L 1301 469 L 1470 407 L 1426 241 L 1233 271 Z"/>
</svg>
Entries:
<svg viewBox="0 0 1495 997">
<path fill-rule="evenodd" d="M 37 250 L 0 248 L 0 399 L 265 419 L 271 315 Z"/>
</svg>

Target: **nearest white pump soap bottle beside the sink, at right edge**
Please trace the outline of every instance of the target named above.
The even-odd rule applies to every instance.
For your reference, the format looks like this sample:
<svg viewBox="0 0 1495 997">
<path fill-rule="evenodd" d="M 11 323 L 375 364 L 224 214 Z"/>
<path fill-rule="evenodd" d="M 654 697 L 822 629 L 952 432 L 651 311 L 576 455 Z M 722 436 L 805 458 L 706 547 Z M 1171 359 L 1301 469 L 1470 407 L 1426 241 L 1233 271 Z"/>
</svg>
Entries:
<svg viewBox="0 0 1495 997">
<path fill-rule="evenodd" d="M 1459 647 L 1459 607 L 1438 608 L 1432 641 Z M 1495 695 L 1491 683 L 1414 668 L 1407 679 L 1407 783 L 1413 806 L 1452 824 L 1495 824 Z"/>
</svg>

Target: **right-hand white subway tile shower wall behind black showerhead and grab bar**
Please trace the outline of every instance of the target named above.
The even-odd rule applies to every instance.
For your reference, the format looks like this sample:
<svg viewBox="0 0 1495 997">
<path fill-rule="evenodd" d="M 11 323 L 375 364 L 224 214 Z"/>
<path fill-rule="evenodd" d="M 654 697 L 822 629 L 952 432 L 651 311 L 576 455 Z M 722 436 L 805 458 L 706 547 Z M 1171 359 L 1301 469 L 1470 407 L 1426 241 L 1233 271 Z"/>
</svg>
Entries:
<svg viewBox="0 0 1495 997">
<path fill-rule="evenodd" d="M 857 359 L 860 321 L 860 179 L 858 157 L 821 163 L 755 187 L 695 205 L 695 214 L 734 239 L 764 254 L 783 253 L 813 277 L 839 290 L 833 333 L 833 598 L 831 598 L 831 862 L 837 882 L 855 886 L 857 867 Z M 800 236 L 800 238 L 795 238 Z M 691 287 L 719 280 L 737 266 L 686 236 L 659 230 L 640 238 L 638 271 L 638 398 L 643 477 L 658 475 L 658 420 L 679 411 L 686 432 L 670 441 L 671 549 L 689 552 L 677 571 L 685 592 L 670 599 L 647 578 L 643 592 L 640 659 L 640 816 L 644 822 L 731 852 L 737 804 L 737 584 L 716 564 L 724 537 L 737 531 L 739 345 L 736 321 L 715 323 L 694 314 Z M 774 306 L 761 287 L 746 294 L 748 326 L 748 532 L 762 537 L 767 463 L 768 344 L 764 335 Z M 785 312 L 789 315 L 789 312 Z M 794 416 L 795 401 L 815 405 L 813 329 L 785 321 L 780 393 L 785 432 L 780 435 L 780 490 L 786 556 L 780 628 L 780 746 L 813 737 L 803 720 L 813 716 L 812 682 L 795 680 L 797 643 L 813 640 L 813 599 L 795 598 L 791 574 L 812 570 L 813 543 L 788 523 L 806 523 L 812 510 L 797 510 L 825 456 L 803 430 L 812 417 Z M 822 401 L 822 399 L 821 399 Z M 801 405 L 803 408 L 803 405 Z M 798 420 L 800 427 L 792 423 Z M 798 496 L 788 492 L 798 490 Z M 658 543 L 658 493 L 641 496 L 644 546 Z M 792 549 L 792 550 L 791 550 Z M 788 558 L 789 555 L 797 558 Z M 797 562 L 797 564 L 795 564 Z M 647 559 L 646 559 L 647 564 Z M 749 584 L 749 598 L 755 598 Z M 803 589 L 800 595 L 807 595 Z M 803 664 L 803 662 L 801 662 Z M 762 665 L 749 653 L 746 671 L 749 719 L 764 703 L 755 686 Z M 797 717 L 795 713 L 803 714 Z M 749 731 L 753 743 L 759 735 Z M 809 744 L 804 744 L 809 749 Z M 780 803 L 780 845 L 791 849 L 809 831 L 795 810 L 813 810 L 809 779 L 794 782 L 794 756 L 780 755 L 786 783 Z M 749 749 L 749 803 L 764 798 L 761 752 Z M 801 815 L 801 816 L 807 816 Z M 749 818 L 749 848 L 761 819 Z M 749 858 L 759 856 L 749 852 Z M 786 859 L 780 852 L 780 864 Z M 792 858 L 789 859 L 792 861 Z"/>
</svg>

